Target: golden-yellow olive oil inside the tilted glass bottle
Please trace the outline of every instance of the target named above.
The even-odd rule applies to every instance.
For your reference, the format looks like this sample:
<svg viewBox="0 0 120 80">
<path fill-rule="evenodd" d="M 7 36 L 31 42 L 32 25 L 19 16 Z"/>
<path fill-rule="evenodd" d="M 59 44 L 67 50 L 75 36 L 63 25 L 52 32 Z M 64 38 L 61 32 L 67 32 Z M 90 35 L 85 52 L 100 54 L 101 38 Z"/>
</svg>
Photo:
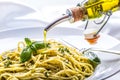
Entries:
<svg viewBox="0 0 120 80">
<path fill-rule="evenodd" d="M 99 18 L 108 11 L 117 11 L 120 7 L 120 0 L 88 0 L 84 6 L 89 19 Z"/>
</svg>

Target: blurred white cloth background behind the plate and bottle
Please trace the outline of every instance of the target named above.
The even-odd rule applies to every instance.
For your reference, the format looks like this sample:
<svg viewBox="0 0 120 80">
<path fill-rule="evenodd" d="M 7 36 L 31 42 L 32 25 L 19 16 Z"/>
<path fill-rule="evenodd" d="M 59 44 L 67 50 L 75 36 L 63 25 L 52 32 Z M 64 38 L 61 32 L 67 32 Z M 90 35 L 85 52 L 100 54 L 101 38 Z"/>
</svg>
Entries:
<svg viewBox="0 0 120 80">
<path fill-rule="evenodd" d="M 55 19 L 66 13 L 66 9 L 76 6 L 83 0 L 0 0 L 0 29 L 6 30 L 18 27 L 29 26 L 46 26 Z M 8 2 L 5 4 L 5 2 Z M 11 7 L 8 4 L 18 3 L 21 5 Z M 6 6 L 4 7 L 3 6 Z M 6 8 L 6 10 L 5 10 Z M 12 14 L 17 12 L 18 14 Z M 105 34 L 109 34 L 120 40 L 120 11 L 114 12 L 111 19 L 102 30 Z M 16 26 L 17 24 L 17 26 Z M 60 27 L 74 27 L 82 29 L 85 21 L 78 21 L 70 24 L 64 22 Z"/>
</svg>

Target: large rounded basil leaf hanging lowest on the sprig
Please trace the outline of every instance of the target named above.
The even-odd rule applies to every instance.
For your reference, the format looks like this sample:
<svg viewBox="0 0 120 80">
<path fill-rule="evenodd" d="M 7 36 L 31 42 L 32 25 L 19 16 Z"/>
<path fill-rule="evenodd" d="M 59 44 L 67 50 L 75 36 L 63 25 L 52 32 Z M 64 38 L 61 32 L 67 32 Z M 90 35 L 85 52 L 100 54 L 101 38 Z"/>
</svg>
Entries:
<svg viewBox="0 0 120 80">
<path fill-rule="evenodd" d="M 26 62 L 26 61 L 28 61 L 28 60 L 31 58 L 32 53 L 33 53 L 33 51 L 32 51 L 31 48 L 25 47 L 25 48 L 23 49 L 21 55 L 20 55 L 20 61 L 21 61 L 21 62 Z"/>
</svg>

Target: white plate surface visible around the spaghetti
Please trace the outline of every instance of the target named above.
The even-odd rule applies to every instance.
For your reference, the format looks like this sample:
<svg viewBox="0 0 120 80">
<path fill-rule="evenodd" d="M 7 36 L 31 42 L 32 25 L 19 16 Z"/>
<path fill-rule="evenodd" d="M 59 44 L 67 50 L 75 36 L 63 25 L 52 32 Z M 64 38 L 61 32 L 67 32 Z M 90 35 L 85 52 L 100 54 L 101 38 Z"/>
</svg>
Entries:
<svg viewBox="0 0 120 80">
<path fill-rule="evenodd" d="M 21 28 L 0 32 L 0 52 L 17 47 L 17 43 L 21 40 L 23 41 L 25 37 L 29 37 L 31 39 L 43 39 L 43 27 Z M 110 49 L 120 44 L 120 42 L 117 39 L 109 35 L 101 34 L 101 37 L 98 40 L 97 44 L 89 45 L 84 40 L 81 31 L 77 28 L 56 27 L 50 32 L 48 32 L 48 37 L 63 39 L 79 49 L 89 47 Z M 120 56 L 117 55 L 104 53 L 98 54 L 98 56 L 103 61 L 120 58 Z"/>
</svg>

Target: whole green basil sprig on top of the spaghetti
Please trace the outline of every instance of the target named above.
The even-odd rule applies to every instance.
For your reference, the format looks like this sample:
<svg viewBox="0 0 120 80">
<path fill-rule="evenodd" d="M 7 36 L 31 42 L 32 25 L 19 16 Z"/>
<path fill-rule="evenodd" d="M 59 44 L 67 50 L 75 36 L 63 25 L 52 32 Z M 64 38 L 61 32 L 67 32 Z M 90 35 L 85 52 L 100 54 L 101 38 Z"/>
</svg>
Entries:
<svg viewBox="0 0 120 80">
<path fill-rule="evenodd" d="M 21 62 L 26 62 L 31 59 L 32 54 L 34 55 L 35 53 L 37 53 L 38 49 L 43 49 L 49 46 L 47 43 L 44 43 L 42 41 L 32 42 L 29 38 L 25 38 L 25 43 L 27 44 L 27 46 L 21 52 Z"/>
</svg>

